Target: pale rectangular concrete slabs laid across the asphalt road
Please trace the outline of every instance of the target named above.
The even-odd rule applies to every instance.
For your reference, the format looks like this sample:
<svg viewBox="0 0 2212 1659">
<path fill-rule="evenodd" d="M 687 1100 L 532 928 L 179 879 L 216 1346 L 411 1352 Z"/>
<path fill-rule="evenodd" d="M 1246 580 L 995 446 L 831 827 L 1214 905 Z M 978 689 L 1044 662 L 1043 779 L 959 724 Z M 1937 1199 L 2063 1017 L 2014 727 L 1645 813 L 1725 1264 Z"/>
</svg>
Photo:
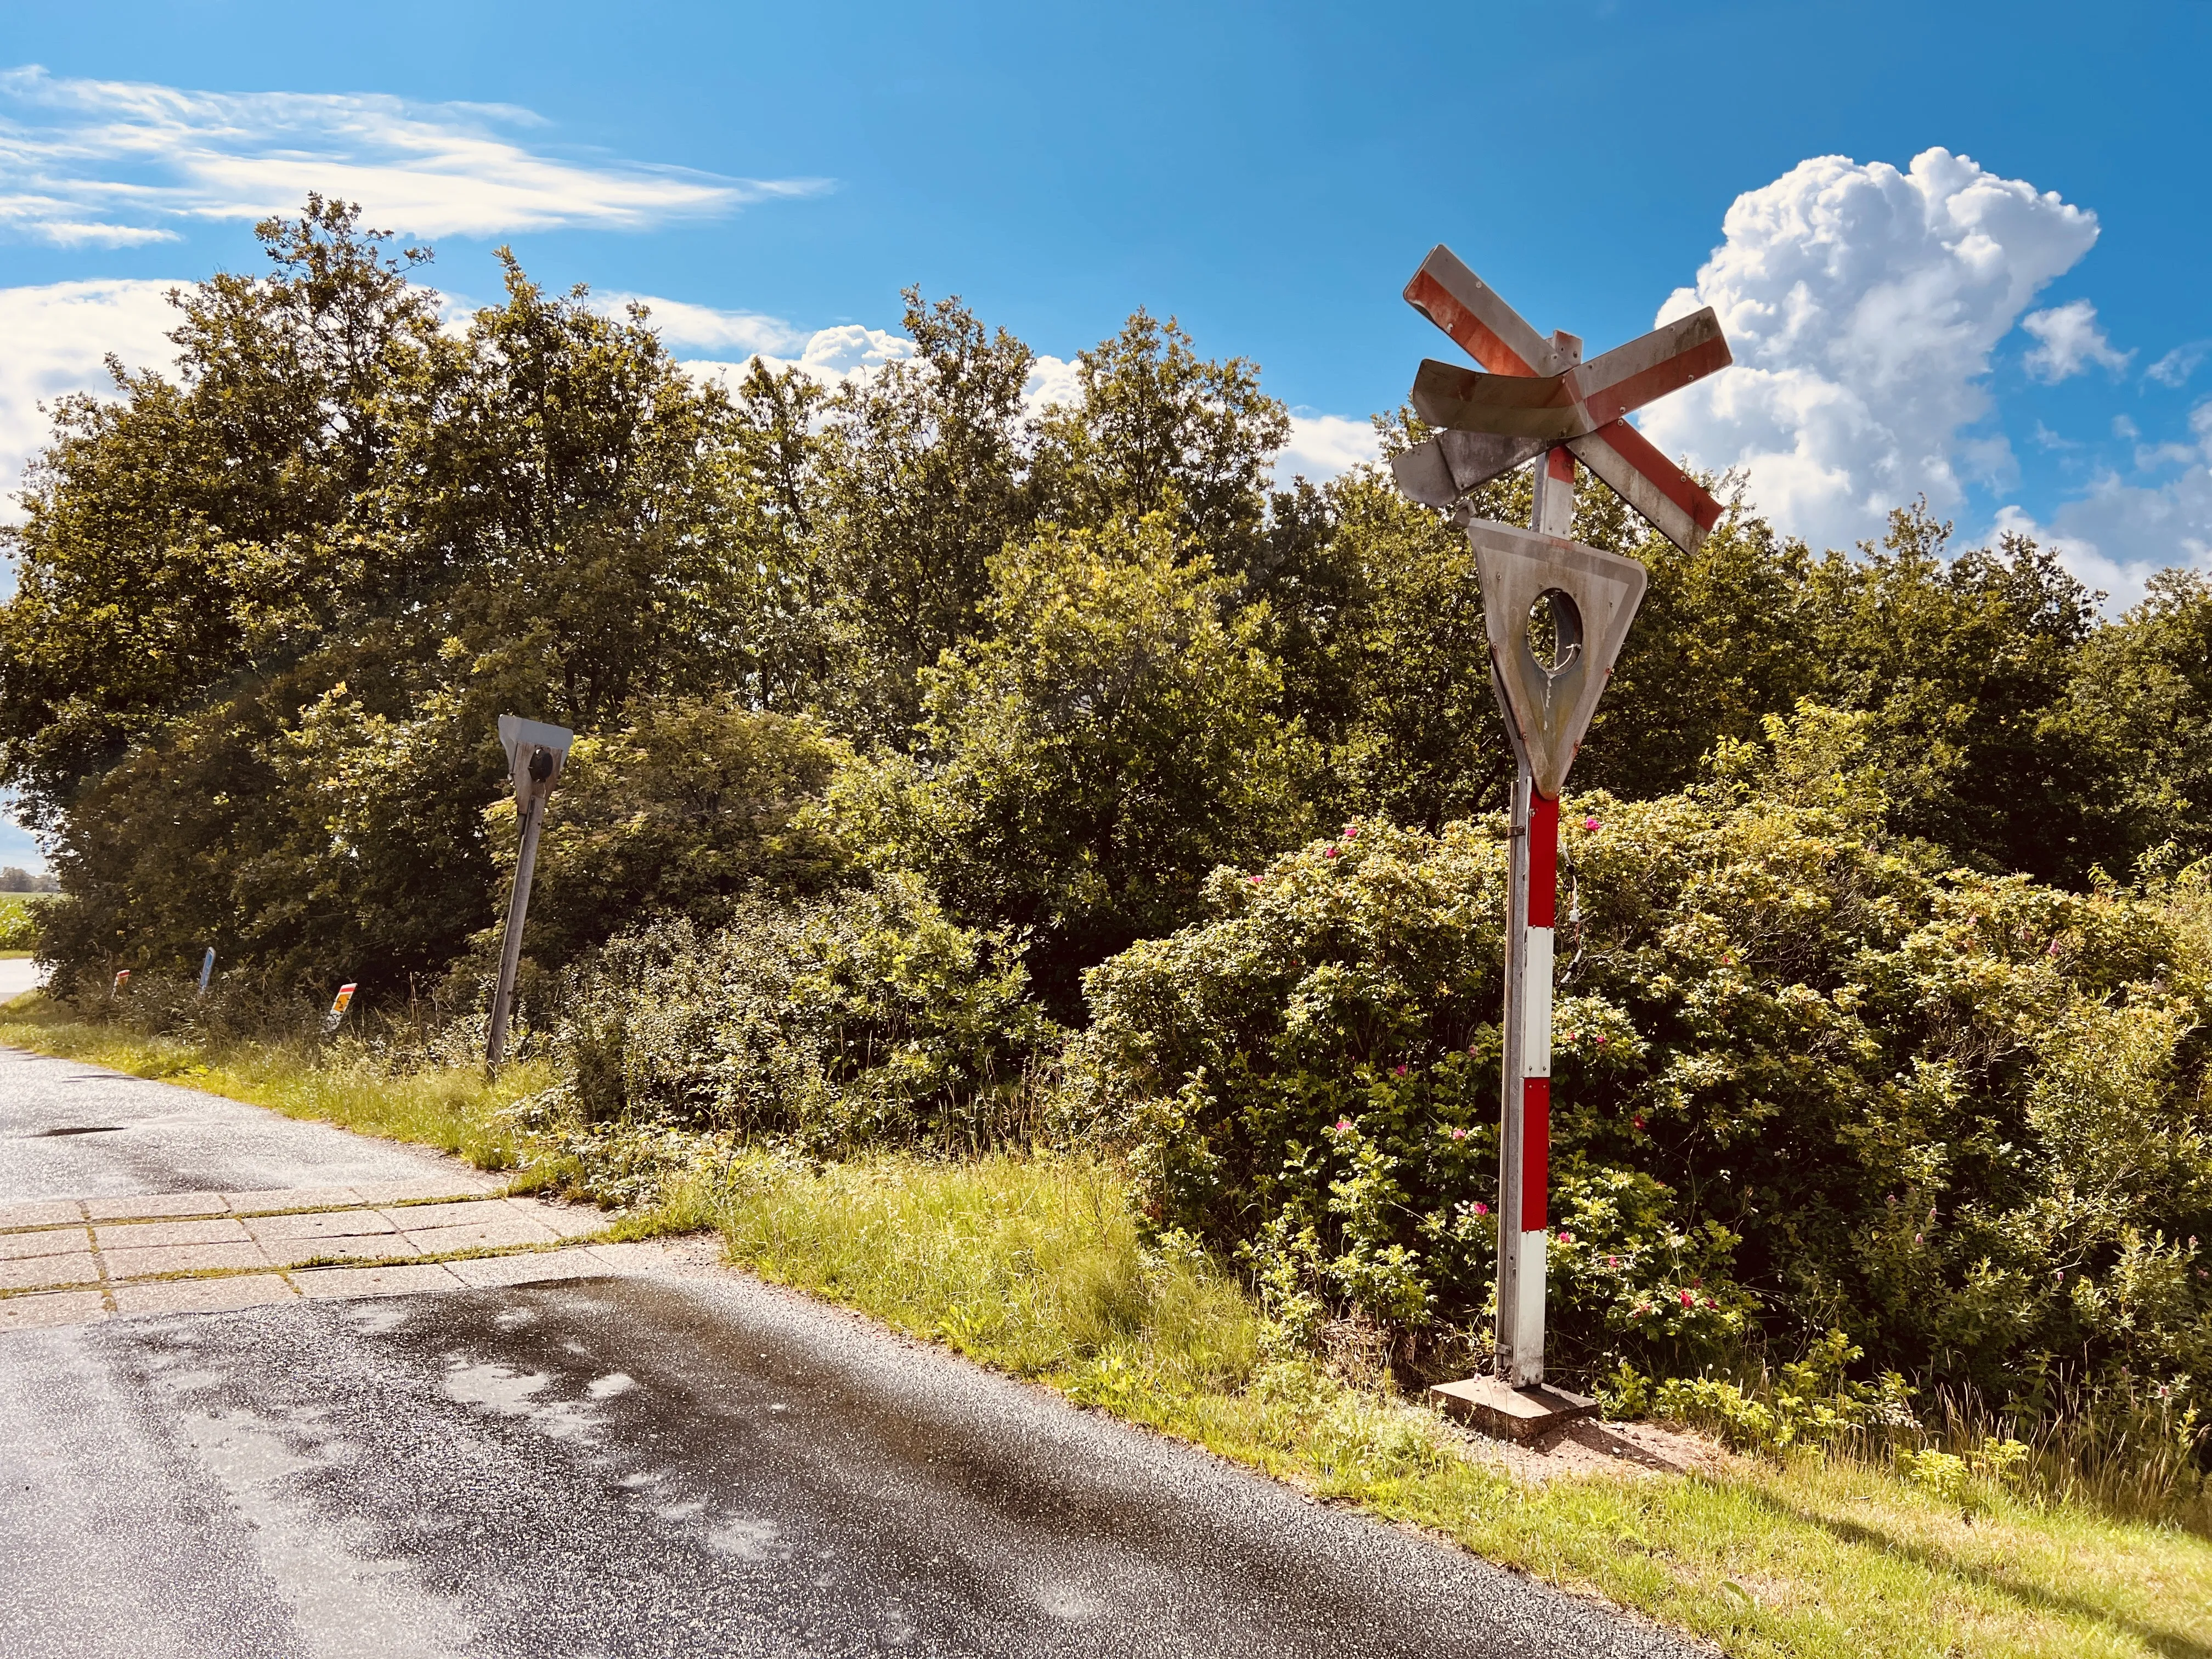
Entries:
<svg viewBox="0 0 2212 1659">
<path fill-rule="evenodd" d="M 465 1175 L 0 1206 L 0 1332 L 119 1314 L 522 1285 L 657 1265 L 608 1217 Z M 347 1265 L 358 1263 L 358 1265 Z"/>
</svg>

